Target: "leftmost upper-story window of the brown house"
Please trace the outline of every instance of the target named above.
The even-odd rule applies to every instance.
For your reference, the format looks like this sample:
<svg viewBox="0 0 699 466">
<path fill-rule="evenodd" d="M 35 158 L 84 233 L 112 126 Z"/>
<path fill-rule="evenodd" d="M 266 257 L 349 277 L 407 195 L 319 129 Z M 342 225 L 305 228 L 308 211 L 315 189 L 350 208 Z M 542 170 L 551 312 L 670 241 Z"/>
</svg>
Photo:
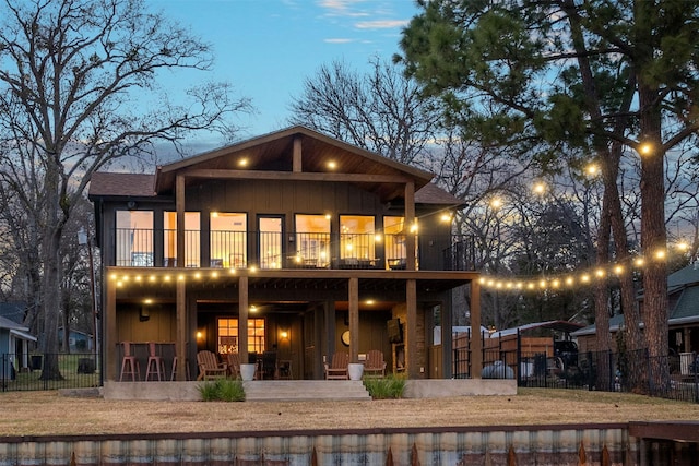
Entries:
<svg viewBox="0 0 699 466">
<path fill-rule="evenodd" d="M 117 211 L 116 265 L 153 266 L 153 212 Z"/>
</svg>

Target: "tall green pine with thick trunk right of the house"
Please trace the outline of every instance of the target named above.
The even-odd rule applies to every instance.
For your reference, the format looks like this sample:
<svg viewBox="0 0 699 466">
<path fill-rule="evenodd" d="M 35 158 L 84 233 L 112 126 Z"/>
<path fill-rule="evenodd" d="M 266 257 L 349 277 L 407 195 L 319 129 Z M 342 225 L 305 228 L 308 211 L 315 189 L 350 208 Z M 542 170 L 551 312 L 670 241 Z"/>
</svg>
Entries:
<svg viewBox="0 0 699 466">
<path fill-rule="evenodd" d="M 621 157 L 639 156 L 645 344 L 651 381 L 668 381 L 665 154 L 697 130 L 697 2 L 623 0 L 419 1 L 404 29 L 406 65 L 451 119 L 482 142 L 518 142 L 523 156 L 555 160 L 562 148 L 592 153 L 605 179 L 597 261 L 625 258 L 616 182 Z M 483 109 L 497 111 L 496 118 Z M 536 150 L 536 152 L 533 152 Z M 608 251 L 609 230 L 617 248 Z M 633 306 L 625 315 L 635 331 Z M 623 292 L 624 294 L 624 292 Z M 601 296 L 601 295 L 600 295 Z M 597 335 L 608 335 L 606 300 Z M 602 309 L 604 308 L 604 309 Z M 608 324 L 607 324 L 608 325 Z M 608 345 L 608 336 L 603 345 Z"/>
</svg>

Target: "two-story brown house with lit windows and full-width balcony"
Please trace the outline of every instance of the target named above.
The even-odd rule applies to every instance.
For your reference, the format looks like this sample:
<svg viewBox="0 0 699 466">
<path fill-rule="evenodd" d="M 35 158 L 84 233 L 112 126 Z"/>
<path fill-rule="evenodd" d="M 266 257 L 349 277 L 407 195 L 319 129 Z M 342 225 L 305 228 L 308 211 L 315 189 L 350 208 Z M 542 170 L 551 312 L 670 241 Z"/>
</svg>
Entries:
<svg viewBox="0 0 699 466">
<path fill-rule="evenodd" d="M 481 319 L 471 243 L 451 234 L 462 202 L 431 179 L 304 127 L 152 175 L 94 174 L 105 379 L 120 378 L 122 342 L 141 367 L 145 343 L 159 345 L 175 380 L 196 377 L 202 349 L 244 361 L 272 353 L 307 380 L 336 351 L 356 362 L 380 349 L 389 372 L 400 358 L 425 378 L 434 315 L 451 322 L 452 289 L 472 286 L 472 324 Z M 447 325 L 441 339 L 450 347 Z M 449 378 L 449 351 L 440 365 Z"/>
</svg>

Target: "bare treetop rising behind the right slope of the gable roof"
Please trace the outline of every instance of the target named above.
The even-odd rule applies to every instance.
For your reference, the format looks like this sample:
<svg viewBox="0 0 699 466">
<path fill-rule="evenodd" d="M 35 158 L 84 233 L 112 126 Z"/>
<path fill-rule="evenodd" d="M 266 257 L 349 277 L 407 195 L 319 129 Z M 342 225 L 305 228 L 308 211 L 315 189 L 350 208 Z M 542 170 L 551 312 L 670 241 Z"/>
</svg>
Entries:
<svg viewBox="0 0 699 466">
<path fill-rule="evenodd" d="M 303 124 L 404 164 L 424 164 L 438 113 L 396 67 L 371 60 L 360 75 L 346 63 L 322 65 L 305 80 L 291 106 L 292 124 Z"/>
</svg>

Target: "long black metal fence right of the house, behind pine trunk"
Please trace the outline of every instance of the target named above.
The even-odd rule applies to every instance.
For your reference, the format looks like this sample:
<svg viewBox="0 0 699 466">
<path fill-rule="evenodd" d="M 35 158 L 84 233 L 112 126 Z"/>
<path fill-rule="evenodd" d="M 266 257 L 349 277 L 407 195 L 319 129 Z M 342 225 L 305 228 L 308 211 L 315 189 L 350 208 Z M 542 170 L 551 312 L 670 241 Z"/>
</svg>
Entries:
<svg viewBox="0 0 699 466">
<path fill-rule="evenodd" d="M 487 342 L 487 338 L 485 338 Z M 519 386 L 632 392 L 699 403 L 699 359 L 696 354 L 651 357 L 648 350 L 544 351 L 526 354 L 517 345 L 484 345 L 484 379 L 517 379 Z M 454 378 L 470 377 L 467 348 L 453 350 Z"/>
</svg>

